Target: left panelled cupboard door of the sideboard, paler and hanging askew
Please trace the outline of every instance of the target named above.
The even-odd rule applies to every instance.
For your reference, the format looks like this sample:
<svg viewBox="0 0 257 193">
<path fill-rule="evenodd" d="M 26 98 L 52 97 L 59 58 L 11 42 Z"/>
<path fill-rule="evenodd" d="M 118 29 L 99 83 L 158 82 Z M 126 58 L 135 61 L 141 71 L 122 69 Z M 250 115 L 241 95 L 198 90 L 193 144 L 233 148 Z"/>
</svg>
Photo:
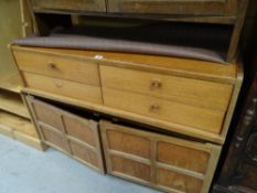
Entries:
<svg viewBox="0 0 257 193">
<path fill-rule="evenodd" d="M 98 124 L 53 105 L 25 97 L 41 139 L 88 167 L 104 173 Z"/>
</svg>

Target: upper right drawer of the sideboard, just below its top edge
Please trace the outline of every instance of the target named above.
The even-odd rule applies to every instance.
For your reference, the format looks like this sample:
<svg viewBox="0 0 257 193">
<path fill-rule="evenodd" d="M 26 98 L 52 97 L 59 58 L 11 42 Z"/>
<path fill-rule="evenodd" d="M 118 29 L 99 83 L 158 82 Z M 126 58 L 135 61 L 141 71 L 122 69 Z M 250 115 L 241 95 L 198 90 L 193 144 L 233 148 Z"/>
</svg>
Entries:
<svg viewBox="0 0 257 193">
<path fill-rule="evenodd" d="M 104 65 L 100 77 L 103 87 L 221 110 L 227 109 L 233 90 L 232 85 Z"/>
</svg>

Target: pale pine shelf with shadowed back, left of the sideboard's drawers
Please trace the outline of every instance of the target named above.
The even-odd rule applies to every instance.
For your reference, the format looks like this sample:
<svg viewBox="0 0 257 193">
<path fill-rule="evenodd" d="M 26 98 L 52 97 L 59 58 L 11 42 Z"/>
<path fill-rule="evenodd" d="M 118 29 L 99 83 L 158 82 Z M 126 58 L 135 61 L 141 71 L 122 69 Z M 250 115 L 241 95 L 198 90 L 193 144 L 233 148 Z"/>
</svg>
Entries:
<svg viewBox="0 0 257 193">
<path fill-rule="evenodd" d="M 30 119 L 20 94 L 0 89 L 0 109 Z"/>
</svg>

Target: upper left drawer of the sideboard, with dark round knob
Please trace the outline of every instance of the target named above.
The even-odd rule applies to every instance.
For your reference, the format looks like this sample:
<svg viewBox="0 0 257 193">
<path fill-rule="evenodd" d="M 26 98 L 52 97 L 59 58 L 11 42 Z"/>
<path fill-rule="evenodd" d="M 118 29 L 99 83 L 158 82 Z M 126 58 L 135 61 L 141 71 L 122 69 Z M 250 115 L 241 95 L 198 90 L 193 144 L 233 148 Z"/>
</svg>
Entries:
<svg viewBox="0 0 257 193">
<path fill-rule="evenodd" d="M 56 53 L 13 51 L 17 64 L 23 72 L 57 77 L 67 81 L 99 85 L 97 63 Z"/>
</svg>

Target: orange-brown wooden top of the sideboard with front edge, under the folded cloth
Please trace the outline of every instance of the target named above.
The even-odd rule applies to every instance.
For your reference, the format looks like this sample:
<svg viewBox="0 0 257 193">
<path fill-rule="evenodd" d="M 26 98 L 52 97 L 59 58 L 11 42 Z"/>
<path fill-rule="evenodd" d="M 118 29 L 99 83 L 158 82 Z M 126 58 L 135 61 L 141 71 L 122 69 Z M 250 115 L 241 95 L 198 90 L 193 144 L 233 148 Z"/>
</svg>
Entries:
<svg viewBox="0 0 257 193">
<path fill-rule="evenodd" d="M 99 65 L 119 66 L 226 84 L 235 83 L 237 75 L 236 64 L 223 65 L 206 61 L 195 61 L 168 56 L 66 49 L 26 47 L 18 45 L 13 45 L 12 51 L 14 53 L 21 52 L 24 54 L 28 52 L 42 55 L 57 54 L 62 58 L 75 58 L 81 61 L 96 61 L 96 56 L 101 56 L 101 60 L 97 60 Z M 19 60 L 17 60 L 17 64 L 19 66 Z"/>
</svg>

